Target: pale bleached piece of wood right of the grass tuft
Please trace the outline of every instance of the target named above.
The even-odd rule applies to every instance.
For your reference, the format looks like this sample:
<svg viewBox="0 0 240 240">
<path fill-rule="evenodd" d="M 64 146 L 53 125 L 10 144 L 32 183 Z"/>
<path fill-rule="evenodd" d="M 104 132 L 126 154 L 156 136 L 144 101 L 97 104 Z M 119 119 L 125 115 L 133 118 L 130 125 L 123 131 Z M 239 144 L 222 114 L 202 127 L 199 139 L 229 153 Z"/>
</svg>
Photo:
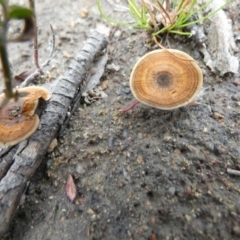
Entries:
<svg viewBox="0 0 240 240">
<path fill-rule="evenodd" d="M 203 0 L 202 4 L 208 0 Z M 224 5 L 226 1 L 213 0 L 205 13 L 214 11 Z M 201 12 L 201 11 L 200 11 Z M 199 50 L 204 55 L 205 64 L 215 73 L 223 76 L 225 73 L 237 73 L 239 68 L 239 60 L 234 56 L 234 52 L 238 51 L 233 38 L 232 24 L 227 14 L 221 9 L 210 17 L 211 25 L 208 33 L 208 48 L 201 47 Z"/>
</svg>

